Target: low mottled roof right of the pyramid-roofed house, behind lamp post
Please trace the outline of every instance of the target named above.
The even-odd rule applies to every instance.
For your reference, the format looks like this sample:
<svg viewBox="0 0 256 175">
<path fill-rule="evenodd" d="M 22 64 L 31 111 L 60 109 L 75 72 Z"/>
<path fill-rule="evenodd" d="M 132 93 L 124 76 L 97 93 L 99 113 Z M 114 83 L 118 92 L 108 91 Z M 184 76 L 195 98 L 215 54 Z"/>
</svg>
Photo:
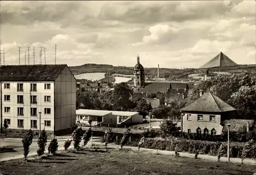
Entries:
<svg viewBox="0 0 256 175">
<path fill-rule="evenodd" d="M 227 130 L 227 123 L 230 124 L 230 132 L 238 132 L 242 128 L 247 128 L 249 122 L 249 128 L 253 126 L 254 120 L 246 120 L 246 119 L 230 119 L 223 120 L 220 124 L 223 126 L 222 132 Z"/>
</svg>

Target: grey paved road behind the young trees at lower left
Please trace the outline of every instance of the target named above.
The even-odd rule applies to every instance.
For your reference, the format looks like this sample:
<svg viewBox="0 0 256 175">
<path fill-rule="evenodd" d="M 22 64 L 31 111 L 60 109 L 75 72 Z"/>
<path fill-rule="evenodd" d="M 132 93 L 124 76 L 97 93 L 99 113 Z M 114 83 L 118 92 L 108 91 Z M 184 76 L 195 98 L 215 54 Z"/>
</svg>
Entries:
<svg viewBox="0 0 256 175">
<path fill-rule="evenodd" d="M 63 148 L 65 141 L 66 139 L 62 139 L 62 141 L 58 141 L 59 148 Z M 101 142 L 101 137 L 94 137 L 93 142 Z M 46 152 L 48 152 L 49 143 L 50 142 L 48 141 L 46 145 Z M 20 140 L 0 139 L 0 147 L 14 148 L 14 150 L 16 151 L 16 152 L 0 153 L 0 160 L 7 157 L 15 157 L 18 155 L 23 155 L 23 145 L 22 145 L 22 141 Z M 37 149 L 38 149 L 37 142 L 33 141 L 32 144 L 30 145 L 29 151 L 36 152 Z"/>
</svg>

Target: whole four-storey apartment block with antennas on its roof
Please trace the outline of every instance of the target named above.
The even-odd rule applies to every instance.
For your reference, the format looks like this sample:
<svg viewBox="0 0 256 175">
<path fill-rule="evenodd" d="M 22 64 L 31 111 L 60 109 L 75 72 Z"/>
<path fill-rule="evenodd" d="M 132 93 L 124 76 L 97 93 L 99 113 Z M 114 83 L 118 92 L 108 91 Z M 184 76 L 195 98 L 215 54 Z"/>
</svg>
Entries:
<svg viewBox="0 0 256 175">
<path fill-rule="evenodd" d="M 4 65 L 0 75 L 1 128 L 6 120 L 13 133 L 39 133 L 39 128 L 54 135 L 71 132 L 76 79 L 67 64 Z"/>
</svg>

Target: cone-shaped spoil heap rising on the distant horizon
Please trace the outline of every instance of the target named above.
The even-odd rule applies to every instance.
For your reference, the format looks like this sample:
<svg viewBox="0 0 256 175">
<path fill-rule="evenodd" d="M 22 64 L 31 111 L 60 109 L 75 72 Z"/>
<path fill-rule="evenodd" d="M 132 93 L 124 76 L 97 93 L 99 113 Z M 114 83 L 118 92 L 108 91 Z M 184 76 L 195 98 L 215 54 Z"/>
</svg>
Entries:
<svg viewBox="0 0 256 175">
<path fill-rule="evenodd" d="M 209 60 L 207 63 L 202 65 L 200 68 L 225 67 L 230 65 L 237 65 L 237 63 L 232 61 L 221 52 L 217 56 Z"/>
</svg>

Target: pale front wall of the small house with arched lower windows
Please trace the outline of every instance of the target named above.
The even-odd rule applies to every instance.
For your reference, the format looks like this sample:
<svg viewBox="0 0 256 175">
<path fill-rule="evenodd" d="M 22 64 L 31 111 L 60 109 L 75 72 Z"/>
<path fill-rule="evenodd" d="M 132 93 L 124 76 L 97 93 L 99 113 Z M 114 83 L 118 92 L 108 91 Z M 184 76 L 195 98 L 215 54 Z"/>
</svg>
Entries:
<svg viewBox="0 0 256 175">
<path fill-rule="evenodd" d="M 209 121 L 209 115 L 211 114 L 207 114 L 207 115 L 199 114 L 199 115 L 203 115 L 203 121 L 198 121 L 197 120 L 198 114 L 191 114 L 191 113 L 184 113 L 184 114 L 185 115 L 182 117 L 183 132 L 187 132 L 187 129 L 191 129 L 191 133 L 197 133 L 197 128 L 200 127 L 202 130 L 202 134 L 203 134 L 204 128 L 207 128 L 209 130 L 209 134 L 212 128 L 215 128 L 217 135 L 221 134 L 222 132 L 222 126 L 220 124 L 221 115 L 212 114 L 212 115 L 215 115 L 215 121 Z M 191 114 L 190 121 L 187 120 L 187 114 Z"/>
</svg>

